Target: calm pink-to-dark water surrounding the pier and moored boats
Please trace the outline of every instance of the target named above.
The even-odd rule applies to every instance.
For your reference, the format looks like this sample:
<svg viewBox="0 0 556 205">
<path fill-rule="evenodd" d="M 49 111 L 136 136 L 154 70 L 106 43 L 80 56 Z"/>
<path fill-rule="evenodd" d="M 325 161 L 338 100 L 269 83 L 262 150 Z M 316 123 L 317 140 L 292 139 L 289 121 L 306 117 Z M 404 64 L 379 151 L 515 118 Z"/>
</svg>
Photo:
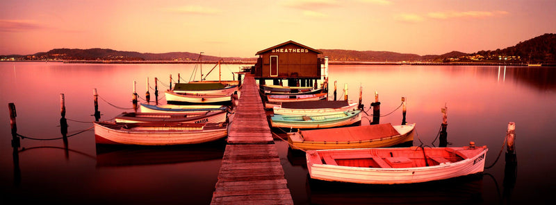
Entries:
<svg viewBox="0 0 556 205">
<path fill-rule="evenodd" d="M 8 103 L 17 108 L 18 133 L 39 139 L 60 137 L 60 93 L 65 94 L 69 134 L 88 129 L 94 121 L 92 89 L 117 107 L 99 99 L 101 120 L 131 109 L 133 80 L 145 98 L 146 78 L 163 90 L 172 74 L 190 79 L 193 64 L 62 64 L 59 62 L 0 63 L 0 193 L 2 200 L 65 204 L 208 204 L 218 181 L 222 141 L 177 148 L 97 147 L 94 132 L 63 141 L 24 139 L 13 155 Z M 222 65 L 222 79 L 242 65 Z M 206 73 L 212 65 L 204 65 Z M 218 67 L 217 67 L 218 69 Z M 484 175 L 410 186 L 358 186 L 307 179 L 304 156 L 275 141 L 295 204 L 525 204 L 554 199 L 556 177 L 553 148 L 556 133 L 556 69 L 504 66 L 348 66 L 331 65 L 341 89 L 359 98 L 363 87 L 366 109 L 379 93 L 382 114 L 407 98 L 407 121 L 417 123 L 414 145 L 431 145 L 448 106 L 448 141 L 453 146 L 490 148 L 486 165 L 498 156 L 508 122 L 516 122 L 517 166 L 505 156 Z M 197 78 L 198 79 L 198 78 Z M 207 80 L 217 80 L 213 71 Z M 183 81 L 183 80 L 182 80 Z M 152 99 L 154 91 L 150 90 Z M 162 99 L 162 103 L 165 103 Z M 3 116 L 3 117 L 2 117 Z M 397 125 L 401 110 L 381 118 Z M 363 125 L 368 124 L 363 118 Z M 434 142 L 438 145 L 438 140 Z M 14 163 L 19 160 L 19 163 Z"/>
</svg>

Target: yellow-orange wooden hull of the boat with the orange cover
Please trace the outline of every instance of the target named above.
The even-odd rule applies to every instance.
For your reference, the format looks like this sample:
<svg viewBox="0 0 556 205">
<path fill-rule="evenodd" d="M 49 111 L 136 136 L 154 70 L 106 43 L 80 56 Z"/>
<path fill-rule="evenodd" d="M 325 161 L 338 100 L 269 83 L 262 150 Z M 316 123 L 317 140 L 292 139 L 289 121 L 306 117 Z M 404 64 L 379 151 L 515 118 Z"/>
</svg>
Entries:
<svg viewBox="0 0 556 205">
<path fill-rule="evenodd" d="M 338 128 L 330 128 L 330 129 L 325 129 L 320 131 L 329 132 L 330 134 L 335 134 L 335 133 L 341 134 L 342 132 L 337 132 L 336 130 L 347 130 L 347 132 L 349 133 L 350 129 L 358 129 L 361 127 L 364 126 L 338 127 Z M 393 128 L 398 131 L 397 135 L 384 136 L 377 139 L 365 139 L 359 141 L 357 140 L 346 141 L 344 136 L 338 136 L 338 138 L 335 141 L 334 140 L 306 141 L 304 140 L 302 134 L 303 132 L 311 132 L 311 130 L 308 130 L 308 131 L 288 133 L 288 142 L 290 143 L 290 147 L 294 150 L 333 150 L 333 149 L 354 149 L 354 148 L 386 148 L 386 147 L 391 147 L 393 145 L 398 145 L 400 143 L 413 141 L 415 124 L 396 125 L 393 126 Z"/>
</svg>

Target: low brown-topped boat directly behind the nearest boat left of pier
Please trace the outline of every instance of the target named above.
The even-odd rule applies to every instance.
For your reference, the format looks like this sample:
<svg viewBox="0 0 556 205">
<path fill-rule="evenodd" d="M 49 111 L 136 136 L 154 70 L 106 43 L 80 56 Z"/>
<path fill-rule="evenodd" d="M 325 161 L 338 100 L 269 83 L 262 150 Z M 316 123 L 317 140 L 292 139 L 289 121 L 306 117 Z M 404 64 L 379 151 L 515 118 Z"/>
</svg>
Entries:
<svg viewBox="0 0 556 205">
<path fill-rule="evenodd" d="M 224 123 L 227 111 L 201 112 L 194 114 L 161 114 L 161 113 L 122 113 L 116 116 L 116 123 Z"/>
</svg>

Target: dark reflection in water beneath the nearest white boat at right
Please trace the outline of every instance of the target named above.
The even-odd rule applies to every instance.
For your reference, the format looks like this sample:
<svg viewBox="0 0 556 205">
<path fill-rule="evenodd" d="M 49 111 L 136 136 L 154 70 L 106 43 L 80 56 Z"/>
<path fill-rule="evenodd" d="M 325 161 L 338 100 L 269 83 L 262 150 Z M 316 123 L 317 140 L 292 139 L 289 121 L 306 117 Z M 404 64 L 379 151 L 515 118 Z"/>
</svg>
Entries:
<svg viewBox="0 0 556 205">
<path fill-rule="evenodd" d="M 482 204 L 482 174 L 419 184 L 369 185 L 307 176 L 311 204 Z"/>
</svg>

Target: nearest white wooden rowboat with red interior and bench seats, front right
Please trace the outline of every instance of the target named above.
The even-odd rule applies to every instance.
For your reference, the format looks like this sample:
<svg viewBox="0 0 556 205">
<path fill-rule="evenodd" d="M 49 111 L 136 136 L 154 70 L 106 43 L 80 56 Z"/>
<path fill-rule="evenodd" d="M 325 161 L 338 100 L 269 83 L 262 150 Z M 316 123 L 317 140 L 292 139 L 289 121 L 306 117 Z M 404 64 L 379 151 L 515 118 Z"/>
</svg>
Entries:
<svg viewBox="0 0 556 205">
<path fill-rule="evenodd" d="M 400 150 L 412 154 L 403 156 L 398 154 Z M 423 165 L 425 163 L 423 150 L 418 147 L 309 150 L 306 152 L 306 159 L 309 175 L 312 179 L 359 184 L 411 184 L 450 179 L 484 171 L 484 158 L 488 151 L 486 146 L 477 147 L 474 150 L 468 147 L 425 148 L 424 152 L 429 157 L 429 155 L 436 156 L 432 153 L 437 151 L 446 155 L 445 157 L 434 158 L 441 158 L 444 162 L 438 163 L 432 159 L 427 159 L 430 166 Z M 390 157 L 391 154 L 389 153 L 392 153 L 394 157 Z M 419 156 L 420 161 L 418 161 Z M 452 159 L 450 161 L 448 157 L 453 158 L 450 158 Z M 457 158 L 461 160 L 457 160 Z M 368 164 L 346 166 L 346 162 L 356 159 L 360 163 L 366 160 Z M 442 161 L 441 159 L 436 160 Z M 325 163 L 322 161 L 325 161 Z M 420 166 L 415 166 L 417 163 L 420 163 Z M 397 168 L 398 166 L 400 168 Z"/>
</svg>

